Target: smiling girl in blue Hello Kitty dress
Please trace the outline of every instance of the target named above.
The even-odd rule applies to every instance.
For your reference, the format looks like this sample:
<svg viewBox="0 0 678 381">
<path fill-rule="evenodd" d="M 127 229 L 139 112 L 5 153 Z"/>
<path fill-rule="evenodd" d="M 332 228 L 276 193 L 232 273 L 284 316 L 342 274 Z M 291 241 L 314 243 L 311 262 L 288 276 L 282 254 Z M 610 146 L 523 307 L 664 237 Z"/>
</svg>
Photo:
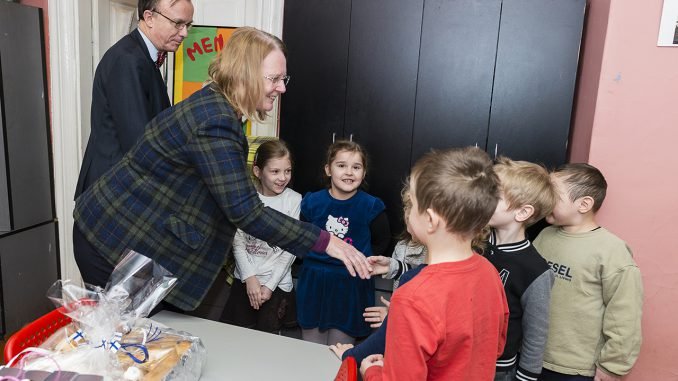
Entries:
<svg viewBox="0 0 678 381">
<path fill-rule="evenodd" d="M 365 256 L 382 255 L 391 239 L 388 219 L 384 203 L 360 190 L 366 173 L 367 155 L 360 145 L 332 144 L 325 164 L 329 189 L 306 194 L 301 215 Z M 352 277 L 341 261 L 324 252 L 304 257 L 297 282 L 297 319 L 304 340 L 354 343 L 370 333 L 362 313 L 373 305 L 373 279 Z"/>
</svg>

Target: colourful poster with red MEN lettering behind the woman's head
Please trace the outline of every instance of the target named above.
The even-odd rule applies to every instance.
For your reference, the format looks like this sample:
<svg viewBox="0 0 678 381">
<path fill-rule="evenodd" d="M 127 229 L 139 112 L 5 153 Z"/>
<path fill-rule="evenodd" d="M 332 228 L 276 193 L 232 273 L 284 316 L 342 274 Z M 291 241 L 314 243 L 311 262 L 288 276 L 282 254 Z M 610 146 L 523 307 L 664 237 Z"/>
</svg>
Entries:
<svg viewBox="0 0 678 381">
<path fill-rule="evenodd" d="M 236 28 L 194 25 L 174 54 L 174 104 L 199 90 L 207 69 Z"/>
</svg>

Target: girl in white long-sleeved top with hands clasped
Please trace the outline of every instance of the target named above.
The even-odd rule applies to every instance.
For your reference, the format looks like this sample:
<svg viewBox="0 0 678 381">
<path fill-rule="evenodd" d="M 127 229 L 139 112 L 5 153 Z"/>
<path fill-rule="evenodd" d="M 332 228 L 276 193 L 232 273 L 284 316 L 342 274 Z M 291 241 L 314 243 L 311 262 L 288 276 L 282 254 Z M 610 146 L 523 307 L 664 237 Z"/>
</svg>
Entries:
<svg viewBox="0 0 678 381">
<path fill-rule="evenodd" d="M 264 205 L 299 218 L 301 195 L 287 188 L 292 158 L 281 140 L 262 143 L 252 166 L 255 186 Z M 233 241 L 236 268 L 221 321 L 265 332 L 296 320 L 291 266 L 294 255 L 238 230 Z"/>
</svg>

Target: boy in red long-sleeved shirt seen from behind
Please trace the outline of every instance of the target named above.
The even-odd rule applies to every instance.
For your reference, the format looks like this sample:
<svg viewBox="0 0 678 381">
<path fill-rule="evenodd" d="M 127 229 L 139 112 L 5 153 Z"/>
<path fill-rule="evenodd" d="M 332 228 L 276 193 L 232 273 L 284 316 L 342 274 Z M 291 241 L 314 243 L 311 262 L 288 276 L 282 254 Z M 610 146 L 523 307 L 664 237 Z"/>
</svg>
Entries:
<svg viewBox="0 0 678 381">
<path fill-rule="evenodd" d="M 428 266 L 391 299 L 385 356 L 363 360 L 372 380 L 493 380 L 508 306 L 497 270 L 471 240 L 499 200 L 499 179 L 477 148 L 431 152 L 410 175 L 408 226 Z"/>
</svg>

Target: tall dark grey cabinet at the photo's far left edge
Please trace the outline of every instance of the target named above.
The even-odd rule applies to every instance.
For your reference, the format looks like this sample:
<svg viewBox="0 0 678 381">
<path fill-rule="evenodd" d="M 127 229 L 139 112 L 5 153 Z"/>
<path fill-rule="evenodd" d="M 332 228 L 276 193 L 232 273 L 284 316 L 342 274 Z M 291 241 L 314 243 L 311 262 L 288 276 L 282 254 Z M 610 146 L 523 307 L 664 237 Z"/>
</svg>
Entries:
<svg viewBox="0 0 678 381">
<path fill-rule="evenodd" d="M 59 274 L 42 10 L 0 1 L 0 329 L 54 308 Z"/>
</svg>

